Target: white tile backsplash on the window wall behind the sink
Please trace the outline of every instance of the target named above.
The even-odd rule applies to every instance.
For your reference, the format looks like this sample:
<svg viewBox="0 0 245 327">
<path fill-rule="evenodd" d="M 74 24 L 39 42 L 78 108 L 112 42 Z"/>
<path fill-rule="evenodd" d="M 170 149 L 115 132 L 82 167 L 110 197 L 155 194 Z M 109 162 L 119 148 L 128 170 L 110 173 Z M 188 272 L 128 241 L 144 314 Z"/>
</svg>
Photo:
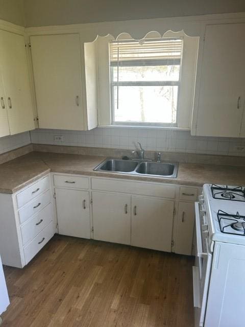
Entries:
<svg viewBox="0 0 245 327">
<path fill-rule="evenodd" d="M 55 141 L 55 136 L 62 136 Z M 36 144 L 135 149 L 140 142 L 145 150 L 245 156 L 245 138 L 191 136 L 190 131 L 150 128 L 95 128 L 90 131 L 36 129 L 31 131 Z"/>
</svg>

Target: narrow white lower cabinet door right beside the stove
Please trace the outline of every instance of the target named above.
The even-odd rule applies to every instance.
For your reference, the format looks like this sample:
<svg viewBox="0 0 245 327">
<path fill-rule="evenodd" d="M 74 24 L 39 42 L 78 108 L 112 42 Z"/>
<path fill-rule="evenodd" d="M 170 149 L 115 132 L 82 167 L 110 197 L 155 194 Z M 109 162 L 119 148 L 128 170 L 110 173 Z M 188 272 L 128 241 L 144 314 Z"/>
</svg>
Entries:
<svg viewBox="0 0 245 327">
<path fill-rule="evenodd" d="M 191 255 L 195 210 L 193 202 L 179 202 L 176 253 Z"/>
</svg>

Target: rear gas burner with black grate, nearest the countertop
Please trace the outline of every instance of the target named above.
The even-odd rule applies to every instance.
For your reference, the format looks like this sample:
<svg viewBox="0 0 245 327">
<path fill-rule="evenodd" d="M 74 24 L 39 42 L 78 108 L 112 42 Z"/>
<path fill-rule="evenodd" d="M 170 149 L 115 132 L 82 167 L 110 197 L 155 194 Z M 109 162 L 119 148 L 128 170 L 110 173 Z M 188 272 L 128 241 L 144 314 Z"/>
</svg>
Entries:
<svg viewBox="0 0 245 327">
<path fill-rule="evenodd" d="M 224 186 L 224 185 L 215 185 L 211 186 L 212 197 L 214 199 L 220 200 L 230 200 L 230 201 L 245 201 L 245 188 L 242 186 Z"/>
</svg>

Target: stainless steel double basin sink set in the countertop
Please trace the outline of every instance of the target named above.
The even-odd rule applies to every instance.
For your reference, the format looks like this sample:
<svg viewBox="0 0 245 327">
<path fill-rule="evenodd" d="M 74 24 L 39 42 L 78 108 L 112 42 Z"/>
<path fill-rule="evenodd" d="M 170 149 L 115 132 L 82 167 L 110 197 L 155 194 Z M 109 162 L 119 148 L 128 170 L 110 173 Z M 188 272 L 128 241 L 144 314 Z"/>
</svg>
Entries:
<svg viewBox="0 0 245 327">
<path fill-rule="evenodd" d="M 99 166 L 95 167 L 94 171 L 175 178 L 177 177 L 178 164 L 168 164 L 166 162 L 156 162 L 144 159 L 123 160 L 108 158 Z"/>
</svg>

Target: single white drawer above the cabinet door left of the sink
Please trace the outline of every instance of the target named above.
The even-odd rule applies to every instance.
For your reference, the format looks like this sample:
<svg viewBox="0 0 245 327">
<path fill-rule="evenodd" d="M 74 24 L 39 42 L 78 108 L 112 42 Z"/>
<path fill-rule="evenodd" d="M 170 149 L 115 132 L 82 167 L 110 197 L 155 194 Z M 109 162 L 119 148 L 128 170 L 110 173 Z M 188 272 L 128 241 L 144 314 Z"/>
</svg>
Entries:
<svg viewBox="0 0 245 327">
<path fill-rule="evenodd" d="M 54 175 L 55 186 L 61 186 L 65 188 L 75 188 L 75 189 L 88 189 L 89 181 L 88 177 L 78 177 L 78 176 L 65 176 L 65 175 Z"/>
</svg>

